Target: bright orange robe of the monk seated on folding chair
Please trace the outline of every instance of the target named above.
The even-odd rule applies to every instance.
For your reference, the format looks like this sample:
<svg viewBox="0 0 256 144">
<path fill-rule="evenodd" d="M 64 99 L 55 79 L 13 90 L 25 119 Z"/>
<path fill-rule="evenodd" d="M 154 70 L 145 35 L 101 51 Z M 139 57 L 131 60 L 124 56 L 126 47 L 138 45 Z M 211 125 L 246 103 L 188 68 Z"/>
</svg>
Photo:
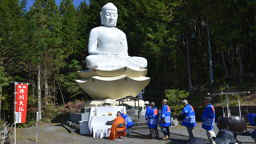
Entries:
<svg viewBox="0 0 256 144">
<path fill-rule="evenodd" d="M 121 134 L 123 134 L 123 136 L 125 135 L 125 132 L 119 132 L 116 134 L 116 128 L 117 128 L 117 131 L 125 131 L 126 127 L 117 127 L 117 125 L 119 123 L 124 123 L 125 124 L 125 121 L 124 119 L 121 117 L 121 116 L 118 116 L 117 118 L 114 119 L 113 123 L 112 123 L 112 126 L 111 126 L 111 132 L 109 134 L 109 140 L 115 140 L 117 139 L 117 137 L 120 137 Z"/>
</svg>

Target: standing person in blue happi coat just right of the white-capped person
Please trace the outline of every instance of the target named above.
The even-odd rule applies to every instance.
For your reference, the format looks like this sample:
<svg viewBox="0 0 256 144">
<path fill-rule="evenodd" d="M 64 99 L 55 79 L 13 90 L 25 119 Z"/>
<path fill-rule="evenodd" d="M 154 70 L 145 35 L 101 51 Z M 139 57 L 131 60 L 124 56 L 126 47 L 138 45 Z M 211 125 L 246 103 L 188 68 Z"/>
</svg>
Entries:
<svg viewBox="0 0 256 144">
<path fill-rule="evenodd" d="M 155 138 L 159 138 L 159 133 L 158 133 L 158 109 L 155 107 L 155 103 L 154 102 L 150 102 L 150 106 L 152 107 L 149 111 L 149 127 L 151 128 L 151 134 L 152 137 L 151 139 L 155 139 Z"/>
</svg>

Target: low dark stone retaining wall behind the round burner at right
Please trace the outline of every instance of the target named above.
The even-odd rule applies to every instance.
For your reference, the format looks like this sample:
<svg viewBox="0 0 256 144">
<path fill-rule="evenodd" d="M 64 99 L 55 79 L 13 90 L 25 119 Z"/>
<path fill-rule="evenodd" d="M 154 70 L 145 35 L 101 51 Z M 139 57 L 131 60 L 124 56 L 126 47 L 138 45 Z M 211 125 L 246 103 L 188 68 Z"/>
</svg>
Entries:
<svg viewBox="0 0 256 144">
<path fill-rule="evenodd" d="M 205 107 L 194 107 L 195 109 L 195 115 L 196 115 L 196 120 L 201 121 L 201 117 L 203 114 Z M 223 116 L 223 110 L 222 106 L 215 106 L 215 122 L 217 121 L 219 116 Z M 239 116 L 239 106 L 228 106 L 228 109 L 230 110 L 231 116 Z M 248 110 L 249 114 L 254 114 L 256 113 L 256 105 L 250 105 L 250 106 L 240 106 L 241 109 L 241 116 L 244 116 L 247 119 L 247 113 L 245 110 Z M 224 114 L 227 116 L 227 107 L 224 106 Z"/>
</svg>

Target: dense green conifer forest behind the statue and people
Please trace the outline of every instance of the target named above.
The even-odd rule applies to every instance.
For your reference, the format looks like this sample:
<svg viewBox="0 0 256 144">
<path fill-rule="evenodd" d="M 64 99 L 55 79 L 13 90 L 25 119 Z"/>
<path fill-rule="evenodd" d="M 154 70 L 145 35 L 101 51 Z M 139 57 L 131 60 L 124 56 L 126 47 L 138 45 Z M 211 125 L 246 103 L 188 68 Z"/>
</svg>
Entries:
<svg viewBox="0 0 256 144">
<path fill-rule="evenodd" d="M 118 9 L 117 28 L 127 36 L 130 56 L 148 61 L 150 83 L 143 100 L 177 107 L 183 99 L 203 106 L 207 93 L 251 91 L 255 104 L 256 0 L 35 0 L 0 1 L 0 118 L 13 121 L 14 84 L 29 83 L 27 123 L 79 112 L 90 100 L 76 83 L 86 70 L 90 30 L 101 25 L 108 2 Z M 236 105 L 236 96 L 229 98 Z M 232 102 L 232 100 L 234 102 Z M 213 97 L 213 103 L 221 101 Z"/>
</svg>

